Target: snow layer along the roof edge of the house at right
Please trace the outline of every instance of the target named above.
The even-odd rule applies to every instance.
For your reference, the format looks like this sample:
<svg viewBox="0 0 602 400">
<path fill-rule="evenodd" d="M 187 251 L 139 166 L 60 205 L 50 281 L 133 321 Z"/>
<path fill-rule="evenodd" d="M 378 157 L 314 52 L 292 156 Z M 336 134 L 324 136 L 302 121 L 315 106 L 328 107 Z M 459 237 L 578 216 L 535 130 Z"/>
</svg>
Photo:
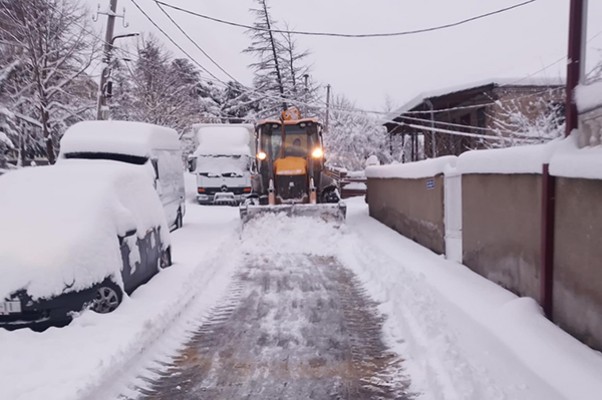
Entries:
<svg viewBox="0 0 602 400">
<path fill-rule="evenodd" d="M 559 78 L 496 78 L 496 79 L 488 79 L 483 81 L 469 82 L 464 84 L 459 84 L 451 87 L 445 87 L 441 89 L 435 89 L 432 91 L 427 91 L 419 94 L 414 97 L 398 109 L 392 111 L 391 113 L 385 116 L 385 121 L 392 121 L 399 115 L 410 111 L 414 107 L 420 105 L 426 99 L 432 99 L 434 97 L 444 96 L 448 94 L 462 92 L 464 90 L 470 90 L 479 88 L 481 86 L 494 85 L 496 87 L 501 86 L 561 86 L 564 85 L 564 81 Z"/>
</svg>

